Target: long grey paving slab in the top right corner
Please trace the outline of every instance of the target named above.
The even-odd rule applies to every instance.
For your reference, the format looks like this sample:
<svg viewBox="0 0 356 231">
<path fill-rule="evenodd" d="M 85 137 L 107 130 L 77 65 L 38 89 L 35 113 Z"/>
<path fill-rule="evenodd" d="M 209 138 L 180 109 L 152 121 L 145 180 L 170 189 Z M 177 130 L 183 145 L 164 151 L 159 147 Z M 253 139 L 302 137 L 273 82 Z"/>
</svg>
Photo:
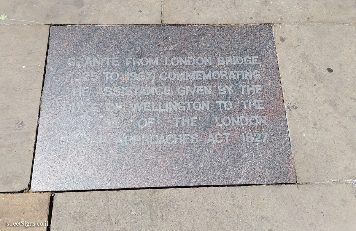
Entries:
<svg viewBox="0 0 356 231">
<path fill-rule="evenodd" d="M 356 22 L 353 0 L 164 0 L 164 23 Z"/>
</svg>

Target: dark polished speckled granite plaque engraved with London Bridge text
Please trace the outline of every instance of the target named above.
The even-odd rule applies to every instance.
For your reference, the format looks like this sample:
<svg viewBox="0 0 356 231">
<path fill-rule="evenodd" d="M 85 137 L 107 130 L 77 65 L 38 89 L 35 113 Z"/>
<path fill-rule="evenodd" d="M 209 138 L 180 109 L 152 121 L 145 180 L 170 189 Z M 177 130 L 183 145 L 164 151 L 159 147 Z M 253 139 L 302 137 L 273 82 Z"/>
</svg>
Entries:
<svg viewBox="0 0 356 231">
<path fill-rule="evenodd" d="M 259 64 L 218 65 L 218 57 L 232 56 L 256 56 Z M 114 57 L 116 65 L 112 65 L 114 59 L 104 59 L 100 63 L 103 65 L 91 66 L 88 57 L 90 62 L 93 57 Z M 158 65 L 126 65 L 126 58 L 130 57 L 157 57 Z M 164 65 L 164 57 L 169 63 L 172 57 L 211 57 L 211 65 L 168 66 Z M 70 58 L 85 61 L 75 63 Z M 226 71 L 229 77 L 230 71 L 241 70 L 258 70 L 261 77 L 160 78 L 163 71 Z M 105 72 L 114 71 L 118 75 L 113 74 L 111 80 L 109 74 L 106 80 Z M 155 80 L 152 76 L 149 80 L 130 80 L 126 74 L 142 71 L 155 72 Z M 72 81 L 68 73 L 76 72 L 89 74 L 76 74 Z M 95 74 L 90 76 L 91 72 L 98 72 L 97 80 Z M 245 88 L 242 94 L 240 85 L 261 85 L 262 93 L 247 94 Z M 139 87 L 139 94 L 141 87 L 164 86 L 169 87 L 170 95 L 120 94 L 121 87 L 129 87 L 126 93 L 127 89 L 135 93 L 134 87 Z M 212 92 L 191 95 L 188 90 L 188 95 L 179 95 L 180 86 L 211 86 Z M 232 87 L 231 93 L 219 94 L 219 86 Z M 105 87 L 117 87 L 120 93 Z M 248 103 L 244 109 L 244 100 L 263 100 L 264 109 L 250 109 Z M 193 104 L 188 110 L 186 102 L 202 101 L 209 101 L 209 110 L 194 110 Z M 231 101 L 232 108 L 220 110 L 216 101 Z M 150 102 L 150 111 L 143 111 L 144 106 L 141 112 L 132 110 L 130 103 L 142 102 Z M 159 109 L 159 102 L 161 110 L 166 108 L 166 102 L 183 102 L 185 111 L 152 111 L 151 108 Z M 69 104 L 74 105 L 74 111 L 69 110 Z M 115 107 L 111 110 L 115 104 L 119 106 L 117 112 Z M 78 105 L 85 106 L 77 112 Z M 107 105 L 109 110 L 105 111 Z M 199 108 L 198 104 L 195 108 Z M 266 116 L 266 125 L 225 126 L 221 121 L 223 117 L 231 120 L 241 116 L 252 117 L 252 123 L 254 117 Z M 179 120 L 176 127 L 173 118 L 178 117 L 196 117 L 193 124 L 197 126 L 181 127 Z M 138 126 L 142 118 L 153 121 L 150 127 Z M 225 124 L 228 121 L 225 119 Z M 254 141 L 261 142 L 243 142 L 243 133 L 245 140 L 251 141 L 247 133 L 252 133 Z M 261 134 L 260 139 L 257 133 Z M 263 141 L 265 133 L 268 135 Z M 184 134 L 189 134 L 187 139 Z M 174 135 L 177 143 L 173 143 Z M 295 171 L 270 26 L 51 27 L 32 191 L 290 182 L 295 182 Z"/>
</svg>

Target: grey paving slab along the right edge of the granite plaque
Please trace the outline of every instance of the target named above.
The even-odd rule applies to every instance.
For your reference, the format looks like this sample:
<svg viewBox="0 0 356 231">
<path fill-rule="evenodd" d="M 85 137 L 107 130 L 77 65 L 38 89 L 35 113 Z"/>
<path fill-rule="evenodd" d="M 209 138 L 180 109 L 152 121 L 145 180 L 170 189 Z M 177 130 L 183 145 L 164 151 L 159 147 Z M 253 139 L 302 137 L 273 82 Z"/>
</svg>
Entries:
<svg viewBox="0 0 356 231">
<path fill-rule="evenodd" d="M 356 179 L 355 34 L 355 25 L 274 27 L 300 182 Z"/>
</svg>

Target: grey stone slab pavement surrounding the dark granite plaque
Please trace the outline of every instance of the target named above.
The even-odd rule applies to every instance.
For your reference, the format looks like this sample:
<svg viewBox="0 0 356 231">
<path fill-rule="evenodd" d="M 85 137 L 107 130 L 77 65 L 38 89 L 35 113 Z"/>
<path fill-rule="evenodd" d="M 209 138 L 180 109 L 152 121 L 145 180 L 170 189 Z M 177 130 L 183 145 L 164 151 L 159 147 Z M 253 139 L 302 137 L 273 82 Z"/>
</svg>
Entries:
<svg viewBox="0 0 356 231">
<path fill-rule="evenodd" d="M 354 0 L 3 0 L 0 14 L 0 230 L 356 230 Z M 32 193 L 49 28 L 84 24 L 271 25 L 297 183 Z M 21 221 L 44 225 L 7 226 Z"/>
</svg>

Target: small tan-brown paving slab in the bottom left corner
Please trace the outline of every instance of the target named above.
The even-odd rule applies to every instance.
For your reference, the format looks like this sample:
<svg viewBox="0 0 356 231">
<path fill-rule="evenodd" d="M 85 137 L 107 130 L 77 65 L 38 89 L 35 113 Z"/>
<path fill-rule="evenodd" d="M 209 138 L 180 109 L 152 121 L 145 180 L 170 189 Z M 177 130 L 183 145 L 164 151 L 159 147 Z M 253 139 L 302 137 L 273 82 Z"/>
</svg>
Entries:
<svg viewBox="0 0 356 231">
<path fill-rule="evenodd" d="M 45 231 L 49 198 L 49 193 L 0 194 L 0 230 Z"/>
</svg>

